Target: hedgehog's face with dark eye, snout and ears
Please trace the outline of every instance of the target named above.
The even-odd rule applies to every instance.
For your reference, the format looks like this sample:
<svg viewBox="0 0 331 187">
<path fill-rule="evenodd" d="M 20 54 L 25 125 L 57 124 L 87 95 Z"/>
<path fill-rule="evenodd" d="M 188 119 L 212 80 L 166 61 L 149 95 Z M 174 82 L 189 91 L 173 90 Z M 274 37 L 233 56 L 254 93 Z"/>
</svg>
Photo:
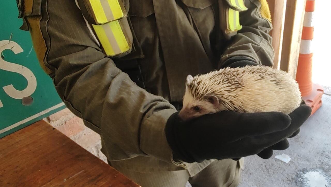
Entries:
<svg viewBox="0 0 331 187">
<path fill-rule="evenodd" d="M 183 108 L 178 116 L 183 121 L 189 121 L 205 114 L 217 112 L 217 106 L 218 99 L 215 96 L 206 95 L 201 99 L 197 99 L 189 92 L 186 92 L 183 98 Z"/>
</svg>

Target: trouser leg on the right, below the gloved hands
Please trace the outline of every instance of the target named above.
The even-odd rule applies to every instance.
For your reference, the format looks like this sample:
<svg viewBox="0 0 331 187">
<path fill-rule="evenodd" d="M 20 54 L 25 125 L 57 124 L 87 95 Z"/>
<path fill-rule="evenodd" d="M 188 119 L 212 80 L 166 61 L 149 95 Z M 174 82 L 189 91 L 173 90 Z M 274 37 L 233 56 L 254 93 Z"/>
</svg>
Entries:
<svg viewBox="0 0 331 187">
<path fill-rule="evenodd" d="M 240 183 L 239 161 L 224 159 L 214 161 L 189 179 L 192 187 L 235 187 Z"/>
</svg>

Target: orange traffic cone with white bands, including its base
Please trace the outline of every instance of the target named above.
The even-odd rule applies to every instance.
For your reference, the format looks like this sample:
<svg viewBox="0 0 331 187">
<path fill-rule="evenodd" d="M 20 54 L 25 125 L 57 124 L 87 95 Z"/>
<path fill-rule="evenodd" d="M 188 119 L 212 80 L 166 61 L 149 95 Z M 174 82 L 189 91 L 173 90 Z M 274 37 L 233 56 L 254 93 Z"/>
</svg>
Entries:
<svg viewBox="0 0 331 187">
<path fill-rule="evenodd" d="M 313 84 L 311 80 L 313 56 L 311 42 L 314 33 L 312 16 L 314 9 L 315 0 L 307 0 L 296 76 L 296 81 L 299 83 L 302 98 L 312 109 L 311 115 L 321 107 L 322 96 L 324 93 L 323 88 L 320 85 Z"/>
</svg>

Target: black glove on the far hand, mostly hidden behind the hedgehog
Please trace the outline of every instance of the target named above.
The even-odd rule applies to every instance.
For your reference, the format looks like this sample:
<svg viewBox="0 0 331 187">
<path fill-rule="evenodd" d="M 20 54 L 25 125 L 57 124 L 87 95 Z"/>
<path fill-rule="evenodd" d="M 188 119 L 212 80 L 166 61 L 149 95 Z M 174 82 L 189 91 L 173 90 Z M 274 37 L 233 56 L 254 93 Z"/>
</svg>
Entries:
<svg viewBox="0 0 331 187">
<path fill-rule="evenodd" d="M 225 68 L 225 67 L 236 68 L 236 67 L 245 67 L 247 65 L 256 66 L 256 65 L 260 65 L 260 64 L 258 62 L 256 62 L 253 58 L 250 58 L 248 56 L 233 56 L 233 57 L 225 60 L 220 68 Z M 305 104 L 305 102 L 303 101 L 302 105 L 304 105 L 304 104 Z M 300 132 L 300 128 L 297 131 L 295 131 L 293 133 L 293 135 L 290 136 L 289 138 L 298 135 L 299 132 Z M 285 138 L 284 140 L 278 142 L 277 144 L 264 149 L 257 155 L 263 159 L 269 159 L 273 154 L 273 150 L 285 150 L 289 146 L 290 146 L 290 144 L 289 144 L 288 140 Z M 239 160 L 239 158 L 233 159 L 233 160 Z"/>
</svg>

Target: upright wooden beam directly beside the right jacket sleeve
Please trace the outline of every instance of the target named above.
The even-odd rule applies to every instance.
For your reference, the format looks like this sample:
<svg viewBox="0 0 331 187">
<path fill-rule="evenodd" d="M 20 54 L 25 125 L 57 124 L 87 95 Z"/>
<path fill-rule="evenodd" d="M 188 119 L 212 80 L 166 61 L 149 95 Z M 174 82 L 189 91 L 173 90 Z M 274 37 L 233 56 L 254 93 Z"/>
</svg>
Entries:
<svg viewBox="0 0 331 187">
<path fill-rule="evenodd" d="M 274 65 L 275 69 L 279 69 L 280 57 L 283 43 L 283 31 L 285 22 L 286 0 L 267 0 L 271 13 L 271 21 L 273 29 L 270 31 L 272 36 L 272 47 L 275 51 Z"/>
</svg>

